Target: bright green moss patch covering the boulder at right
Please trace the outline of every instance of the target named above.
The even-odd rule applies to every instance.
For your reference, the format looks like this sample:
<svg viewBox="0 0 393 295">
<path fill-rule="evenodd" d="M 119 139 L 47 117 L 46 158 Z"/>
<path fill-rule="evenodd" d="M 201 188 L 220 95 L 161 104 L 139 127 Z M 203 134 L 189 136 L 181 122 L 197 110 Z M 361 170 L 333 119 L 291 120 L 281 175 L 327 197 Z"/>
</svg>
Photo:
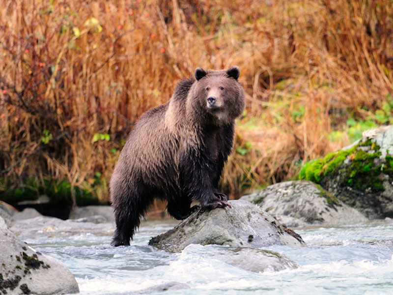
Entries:
<svg viewBox="0 0 393 295">
<path fill-rule="evenodd" d="M 367 152 L 361 149 L 362 147 L 368 147 L 374 152 Z M 325 177 L 342 175 L 340 184 L 343 186 L 355 187 L 362 191 L 368 188 L 373 192 L 382 191 L 384 187 L 379 175 L 381 170 L 393 174 L 393 157 L 386 156 L 384 166 L 375 164 L 374 160 L 381 156 L 379 149 L 377 144 L 368 139 L 350 149 L 330 153 L 322 159 L 306 163 L 299 173 L 299 179 L 321 183 Z M 342 165 L 347 158 L 350 160 L 348 165 Z"/>
</svg>

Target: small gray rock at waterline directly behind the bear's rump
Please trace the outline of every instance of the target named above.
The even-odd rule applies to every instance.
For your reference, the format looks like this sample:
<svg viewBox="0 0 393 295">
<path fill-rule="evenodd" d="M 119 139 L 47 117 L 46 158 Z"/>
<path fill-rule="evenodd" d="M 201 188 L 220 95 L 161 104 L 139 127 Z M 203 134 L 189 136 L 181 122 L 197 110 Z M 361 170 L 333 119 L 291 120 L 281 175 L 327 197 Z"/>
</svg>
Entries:
<svg viewBox="0 0 393 295">
<path fill-rule="evenodd" d="M 94 223 L 114 222 L 113 208 L 111 206 L 76 207 L 70 212 L 69 219 L 80 219 L 92 216 L 101 216 L 100 218 L 95 217 L 91 219 Z"/>
</svg>

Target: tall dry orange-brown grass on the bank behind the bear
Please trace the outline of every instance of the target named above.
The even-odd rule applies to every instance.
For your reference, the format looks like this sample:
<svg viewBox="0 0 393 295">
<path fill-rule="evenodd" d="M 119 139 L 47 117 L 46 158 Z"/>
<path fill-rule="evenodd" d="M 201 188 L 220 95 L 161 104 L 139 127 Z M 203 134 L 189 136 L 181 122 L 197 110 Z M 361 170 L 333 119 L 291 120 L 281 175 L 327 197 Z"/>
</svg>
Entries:
<svg viewBox="0 0 393 295">
<path fill-rule="evenodd" d="M 393 89 L 392 0 L 0 3 L 0 177 L 14 185 L 68 179 L 108 200 L 121 141 L 197 66 L 241 68 L 232 196 L 348 144 L 328 136 Z"/>
</svg>

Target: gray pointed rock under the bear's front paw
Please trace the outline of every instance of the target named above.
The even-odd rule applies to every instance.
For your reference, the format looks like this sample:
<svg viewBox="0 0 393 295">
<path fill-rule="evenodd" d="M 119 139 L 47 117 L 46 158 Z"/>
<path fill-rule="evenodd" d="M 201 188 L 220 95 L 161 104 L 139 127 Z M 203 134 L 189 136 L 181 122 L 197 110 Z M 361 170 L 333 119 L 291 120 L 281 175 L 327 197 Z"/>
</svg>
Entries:
<svg viewBox="0 0 393 295">
<path fill-rule="evenodd" d="M 197 210 L 174 229 L 153 237 L 149 245 L 170 252 L 179 252 L 190 244 L 250 248 L 306 245 L 299 235 L 250 202 L 237 200 L 228 204 L 231 207 Z"/>
</svg>

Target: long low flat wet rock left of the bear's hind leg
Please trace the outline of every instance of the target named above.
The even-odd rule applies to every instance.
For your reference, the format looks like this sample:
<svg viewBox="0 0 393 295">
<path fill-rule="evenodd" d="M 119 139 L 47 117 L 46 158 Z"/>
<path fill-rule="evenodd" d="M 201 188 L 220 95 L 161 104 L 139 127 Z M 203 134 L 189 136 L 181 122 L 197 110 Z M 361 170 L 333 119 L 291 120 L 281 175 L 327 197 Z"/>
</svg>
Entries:
<svg viewBox="0 0 393 295">
<path fill-rule="evenodd" d="M 41 237 L 60 237 L 74 235 L 111 236 L 114 230 L 112 223 L 95 224 L 85 220 L 62 220 L 55 217 L 40 216 L 32 219 L 17 220 L 10 228 L 20 239 Z"/>
</svg>

